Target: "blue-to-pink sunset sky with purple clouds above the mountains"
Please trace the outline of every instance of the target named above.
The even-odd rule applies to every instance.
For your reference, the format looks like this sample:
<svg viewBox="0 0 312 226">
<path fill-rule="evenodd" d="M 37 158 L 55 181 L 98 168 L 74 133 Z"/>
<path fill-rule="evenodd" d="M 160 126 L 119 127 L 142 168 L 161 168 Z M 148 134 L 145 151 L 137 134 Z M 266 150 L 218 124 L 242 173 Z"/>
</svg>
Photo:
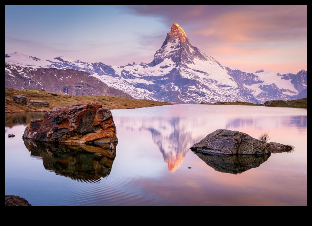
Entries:
<svg viewBox="0 0 312 226">
<path fill-rule="evenodd" d="M 307 70 L 307 6 L 5 6 L 5 53 L 150 63 L 173 23 L 223 66 Z"/>
</svg>

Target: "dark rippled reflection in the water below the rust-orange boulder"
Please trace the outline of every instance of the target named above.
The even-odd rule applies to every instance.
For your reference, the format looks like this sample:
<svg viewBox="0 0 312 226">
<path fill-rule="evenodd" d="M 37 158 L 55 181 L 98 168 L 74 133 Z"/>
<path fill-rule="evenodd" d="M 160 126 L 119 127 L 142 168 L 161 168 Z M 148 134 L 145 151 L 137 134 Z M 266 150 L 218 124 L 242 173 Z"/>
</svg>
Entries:
<svg viewBox="0 0 312 226">
<path fill-rule="evenodd" d="M 24 139 L 24 144 L 32 156 L 42 157 L 46 170 L 82 182 L 98 182 L 108 176 L 116 156 L 109 144 L 53 144 L 30 139 Z"/>
</svg>

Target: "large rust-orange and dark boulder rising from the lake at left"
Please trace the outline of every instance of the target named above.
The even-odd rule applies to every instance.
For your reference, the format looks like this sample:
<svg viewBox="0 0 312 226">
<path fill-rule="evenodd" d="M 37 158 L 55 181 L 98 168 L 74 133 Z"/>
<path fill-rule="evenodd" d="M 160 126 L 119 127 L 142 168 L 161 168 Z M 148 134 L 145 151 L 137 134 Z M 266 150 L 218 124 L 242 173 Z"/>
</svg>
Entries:
<svg viewBox="0 0 312 226">
<path fill-rule="evenodd" d="M 31 121 L 23 138 L 60 143 L 118 141 L 112 113 L 101 104 L 76 104 L 47 111 L 43 119 Z"/>
</svg>

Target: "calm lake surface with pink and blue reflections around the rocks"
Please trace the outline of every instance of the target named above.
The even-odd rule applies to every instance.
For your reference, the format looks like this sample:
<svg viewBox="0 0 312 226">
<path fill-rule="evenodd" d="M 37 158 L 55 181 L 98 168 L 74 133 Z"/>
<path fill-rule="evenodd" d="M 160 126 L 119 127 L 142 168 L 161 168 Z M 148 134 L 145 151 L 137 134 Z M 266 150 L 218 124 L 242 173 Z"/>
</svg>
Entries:
<svg viewBox="0 0 312 226">
<path fill-rule="evenodd" d="M 26 125 L 43 115 L 6 115 L 5 194 L 32 205 L 307 205 L 306 109 L 173 105 L 112 114 L 115 152 L 24 142 Z M 295 151 L 256 158 L 189 149 L 216 129 L 255 138 L 268 131 L 270 142 Z"/>
</svg>

